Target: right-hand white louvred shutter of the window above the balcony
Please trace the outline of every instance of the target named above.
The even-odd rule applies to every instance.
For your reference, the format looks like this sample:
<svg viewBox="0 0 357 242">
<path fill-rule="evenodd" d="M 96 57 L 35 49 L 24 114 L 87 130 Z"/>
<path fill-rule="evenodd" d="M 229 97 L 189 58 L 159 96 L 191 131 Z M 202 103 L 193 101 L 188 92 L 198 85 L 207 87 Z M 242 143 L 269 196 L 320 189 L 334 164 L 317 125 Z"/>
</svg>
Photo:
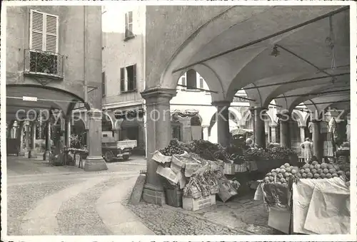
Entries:
<svg viewBox="0 0 357 242">
<path fill-rule="evenodd" d="M 46 14 L 45 51 L 57 53 L 59 46 L 59 16 Z"/>
</svg>

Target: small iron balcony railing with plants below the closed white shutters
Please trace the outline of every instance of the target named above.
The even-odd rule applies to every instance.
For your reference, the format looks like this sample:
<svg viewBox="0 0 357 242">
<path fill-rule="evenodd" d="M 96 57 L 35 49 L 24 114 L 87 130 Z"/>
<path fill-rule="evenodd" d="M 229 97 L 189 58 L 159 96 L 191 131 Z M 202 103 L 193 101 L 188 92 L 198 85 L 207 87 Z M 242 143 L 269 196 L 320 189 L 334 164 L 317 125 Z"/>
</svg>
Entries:
<svg viewBox="0 0 357 242">
<path fill-rule="evenodd" d="M 64 78 L 64 56 L 49 51 L 25 50 L 24 73 Z"/>
</svg>

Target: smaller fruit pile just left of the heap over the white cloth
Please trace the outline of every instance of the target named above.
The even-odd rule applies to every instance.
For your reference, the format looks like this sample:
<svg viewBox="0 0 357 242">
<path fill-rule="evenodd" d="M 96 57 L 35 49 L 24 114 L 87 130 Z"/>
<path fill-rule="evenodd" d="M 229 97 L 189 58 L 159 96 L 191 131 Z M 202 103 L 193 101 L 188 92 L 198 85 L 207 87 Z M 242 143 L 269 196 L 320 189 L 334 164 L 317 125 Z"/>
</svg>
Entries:
<svg viewBox="0 0 357 242">
<path fill-rule="evenodd" d="M 292 167 L 290 164 L 283 164 L 280 168 L 272 169 L 271 172 L 266 174 L 264 182 L 266 184 L 276 183 L 288 185 L 288 179 L 298 177 L 298 167 Z"/>
</svg>

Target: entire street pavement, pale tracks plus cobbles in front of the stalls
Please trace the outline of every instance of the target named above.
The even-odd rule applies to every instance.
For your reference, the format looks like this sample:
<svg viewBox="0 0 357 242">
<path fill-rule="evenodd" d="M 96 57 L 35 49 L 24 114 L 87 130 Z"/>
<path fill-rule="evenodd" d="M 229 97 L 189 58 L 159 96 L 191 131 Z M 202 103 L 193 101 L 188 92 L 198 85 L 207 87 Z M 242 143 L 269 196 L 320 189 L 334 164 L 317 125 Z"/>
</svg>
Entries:
<svg viewBox="0 0 357 242">
<path fill-rule="evenodd" d="M 141 202 L 128 204 L 143 157 L 84 172 L 48 167 L 40 159 L 8 157 L 8 234 L 234 235 L 271 234 L 262 204 L 238 199 L 191 212 Z M 10 172 L 9 172 L 10 171 Z"/>
</svg>

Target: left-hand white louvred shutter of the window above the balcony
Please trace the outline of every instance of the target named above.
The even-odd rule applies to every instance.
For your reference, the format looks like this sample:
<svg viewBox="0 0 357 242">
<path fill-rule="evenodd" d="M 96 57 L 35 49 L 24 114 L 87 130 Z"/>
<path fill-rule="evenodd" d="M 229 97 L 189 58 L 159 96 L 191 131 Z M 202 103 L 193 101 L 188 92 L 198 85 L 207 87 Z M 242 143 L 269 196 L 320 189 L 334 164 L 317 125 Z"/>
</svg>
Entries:
<svg viewBox="0 0 357 242">
<path fill-rule="evenodd" d="M 44 13 L 30 12 L 30 49 L 44 50 Z"/>
</svg>

